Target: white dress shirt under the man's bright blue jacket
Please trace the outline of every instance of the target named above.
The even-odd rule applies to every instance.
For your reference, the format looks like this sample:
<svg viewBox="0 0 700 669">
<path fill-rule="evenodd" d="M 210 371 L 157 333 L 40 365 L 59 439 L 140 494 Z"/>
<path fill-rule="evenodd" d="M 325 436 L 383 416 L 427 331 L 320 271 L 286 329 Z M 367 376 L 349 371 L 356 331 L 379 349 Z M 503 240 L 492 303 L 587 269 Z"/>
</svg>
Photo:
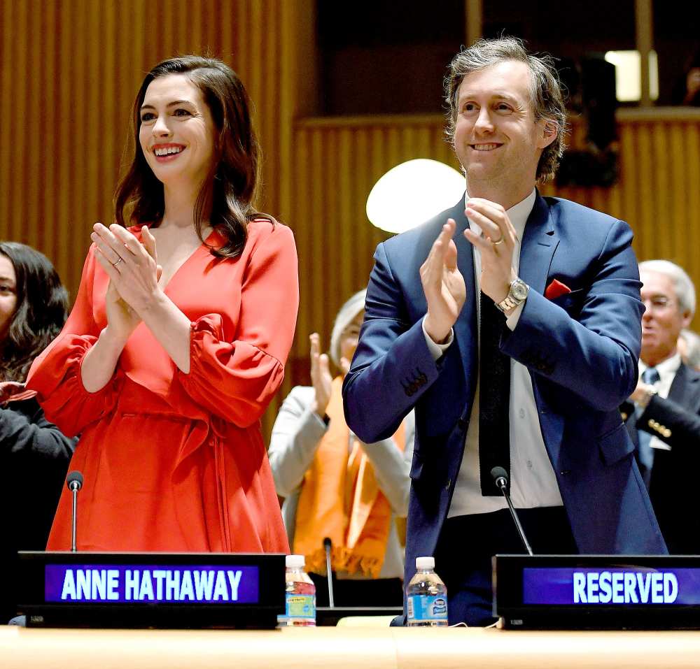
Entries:
<svg viewBox="0 0 700 669">
<path fill-rule="evenodd" d="M 520 264 L 520 244 L 525 224 L 535 204 L 535 189 L 524 200 L 507 210 L 513 224 L 517 240 L 513 250 L 513 267 L 518 271 Z M 465 196 L 465 202 L 469 196 Z M 469 220 L 469 228 L 481 234 L 479 226 Z M 467 299 L 476 299 L 477 321 L 479 315 L 479 287 L 481 280 L 481 253 L 472 247 L 474 258 L 474 278 L 476 294 Z M 520 305 L 507 318 L 506 324 L 514 330 L 524 304 Z M 435 343 L 425 330 L 423 334 L 433 357 L 437 360 L 451 345 L 454 334 L 450 333 L 447 343 Z M 542 438 L 540 420 L 530 373 L 519 362 L 510 360 L 510 495 L 514 506 L 521 509 L 545 506 L 561 506 L 561 494 L 556 483 L 552 463 L 549 461 L 545 441 Z M 472 404 L 469 427 L 465 438 L 465 449 L 459 468 L 454 496 L 447 517 L 486 513 L 507 508 L 503 497 L 484 497 L 481 494 L 479 475 L 479 384 Z"/>
</svg>

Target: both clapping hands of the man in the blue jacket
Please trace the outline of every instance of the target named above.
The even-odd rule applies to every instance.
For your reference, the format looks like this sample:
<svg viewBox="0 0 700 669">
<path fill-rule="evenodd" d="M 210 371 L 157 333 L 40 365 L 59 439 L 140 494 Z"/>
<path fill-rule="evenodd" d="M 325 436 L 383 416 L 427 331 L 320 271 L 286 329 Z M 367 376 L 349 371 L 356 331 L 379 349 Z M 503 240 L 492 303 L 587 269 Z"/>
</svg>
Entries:
<svg viewBox="0 0 700 669">
<path fill-rule="evenodd" d="M 481 236 L 470 229 L 464 231 L 465 238 L 481 254 L 482 292 L 494 302 L 500 302 L 517 276 L 512 266 L 517 241 L 515 229 L 503 206 L 483 198 L 470 198 L 465 215 L 482 229 Z M 437 343 L 449 337 L 466 299 L 464 277 L 457 266 L 457 247 L 452 239 L 455 229 L 454 219 L 448 219 L 420 269 L 428 305 L 424 325 Z"/>
</svg>

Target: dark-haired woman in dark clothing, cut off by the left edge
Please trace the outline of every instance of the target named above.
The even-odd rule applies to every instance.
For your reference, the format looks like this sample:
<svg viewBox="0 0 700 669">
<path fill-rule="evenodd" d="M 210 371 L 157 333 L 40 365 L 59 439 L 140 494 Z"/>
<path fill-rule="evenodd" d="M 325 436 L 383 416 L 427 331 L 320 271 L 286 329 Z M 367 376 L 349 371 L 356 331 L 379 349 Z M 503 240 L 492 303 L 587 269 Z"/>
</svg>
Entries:
<svg viewBox="0 0 700 669">
<path fill-rule="evenodd" d="M 0 242 L 0 570 L 18 550 L 43 550 L 75 439 L 48 422 L 25 389 L 31 361 L 61 331 L 68 294 L 48 259 L 29 246 Z M 0 621 L 13 616 L 13 579 L 0 589 Z"/>
</svg>

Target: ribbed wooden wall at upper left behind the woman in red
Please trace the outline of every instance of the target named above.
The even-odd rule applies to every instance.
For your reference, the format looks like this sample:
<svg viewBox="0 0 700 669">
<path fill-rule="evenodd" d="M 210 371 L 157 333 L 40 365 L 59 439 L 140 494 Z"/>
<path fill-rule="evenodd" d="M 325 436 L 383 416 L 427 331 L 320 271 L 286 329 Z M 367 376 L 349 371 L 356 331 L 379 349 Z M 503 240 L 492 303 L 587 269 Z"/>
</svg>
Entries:
<svg viewBox="0 0 700 669">
<path fill-rule="evenodd" d="M 221 57 L 246 84 L 264 151 L 260 208 L 280 215 L 292 18 L 283 0 L 0 0 L 0 238 L 47 254 L 75 296 L 91 226 L 113 217 L 137 88 L 184 53 Z"/>
</svg>

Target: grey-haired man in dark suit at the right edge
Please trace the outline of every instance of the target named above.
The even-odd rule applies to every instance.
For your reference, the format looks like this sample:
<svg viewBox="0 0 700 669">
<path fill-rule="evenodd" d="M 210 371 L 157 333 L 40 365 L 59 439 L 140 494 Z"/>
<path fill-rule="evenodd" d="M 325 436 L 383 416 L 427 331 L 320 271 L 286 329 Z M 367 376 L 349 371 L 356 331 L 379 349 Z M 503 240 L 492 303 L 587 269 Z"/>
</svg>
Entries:
<svg viewBox="0 0 700 669">
<path fill-rule="evenodd" d="M 640 377 L 622 416 L 668 550 L 700 554 L 695 489 L 684 480 L 700 470 L 700 372 L 678 352 L 680 333 L 695 312 L 695 288 L 667 260 L 640 263 L 639 273 L 646 305 Z"/>
</svg>

